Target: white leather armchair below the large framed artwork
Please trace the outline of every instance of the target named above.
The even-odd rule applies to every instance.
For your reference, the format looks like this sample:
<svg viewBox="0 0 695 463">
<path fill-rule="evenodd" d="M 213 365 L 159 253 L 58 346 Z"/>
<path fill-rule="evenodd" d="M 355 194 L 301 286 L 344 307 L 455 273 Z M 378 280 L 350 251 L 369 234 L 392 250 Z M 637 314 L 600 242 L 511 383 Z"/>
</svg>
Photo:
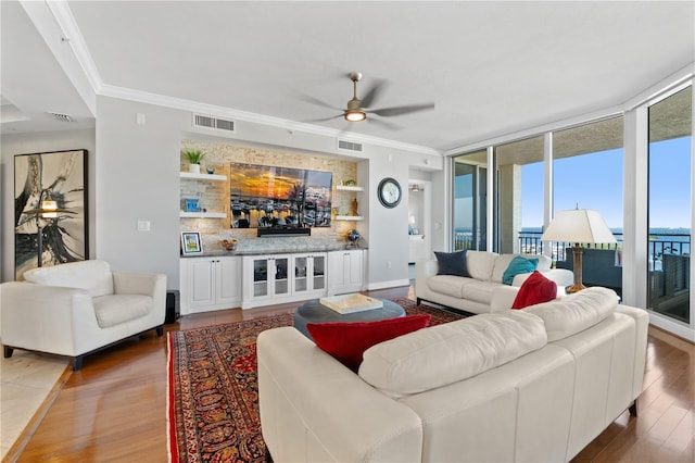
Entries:
<svg viewBox="0 0 695 463">
<path fill-rule="evenodd" d="M 4 356 L 14 349 L 83 358 L 134 335 L 164 334 L 166 275 L 111 272 L 90 260 L 24 273 L 2 284 L 0 335 Z"/>
</svg>

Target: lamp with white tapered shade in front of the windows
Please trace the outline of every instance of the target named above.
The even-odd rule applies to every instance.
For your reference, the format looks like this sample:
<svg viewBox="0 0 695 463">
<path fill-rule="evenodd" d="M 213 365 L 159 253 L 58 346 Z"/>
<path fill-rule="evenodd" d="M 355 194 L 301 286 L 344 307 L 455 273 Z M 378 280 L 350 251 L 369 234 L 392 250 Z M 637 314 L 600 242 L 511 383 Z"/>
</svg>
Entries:
<svg viewBox="0 0 695 463">
<path fill-rule="evenodd" d="M 616 243 L 616 237 L 597 211 L 591 209 L 573 209 L 558 211 L 547 226 L 541 241 L 573 242 L 574 284 L 565 288 L 568 293 L 581 291 L 582 284 L 582 243 Z"/>
</svg>

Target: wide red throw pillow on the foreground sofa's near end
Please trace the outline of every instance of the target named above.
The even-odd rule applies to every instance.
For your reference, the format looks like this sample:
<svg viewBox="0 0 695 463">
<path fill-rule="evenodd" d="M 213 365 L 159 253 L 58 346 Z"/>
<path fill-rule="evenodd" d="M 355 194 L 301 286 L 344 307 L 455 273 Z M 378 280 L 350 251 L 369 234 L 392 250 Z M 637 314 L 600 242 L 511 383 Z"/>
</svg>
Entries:
<svg viewBox="0 0 695 463">
<path fill-rule="evenodd" d="M 308 323 L 306 328 L 316 346 L 356 372 L 364 351 L 379 342 L 425 328 L 430 318 L 431 315 L 419 314 L 374 322 Z"/>
</svg>

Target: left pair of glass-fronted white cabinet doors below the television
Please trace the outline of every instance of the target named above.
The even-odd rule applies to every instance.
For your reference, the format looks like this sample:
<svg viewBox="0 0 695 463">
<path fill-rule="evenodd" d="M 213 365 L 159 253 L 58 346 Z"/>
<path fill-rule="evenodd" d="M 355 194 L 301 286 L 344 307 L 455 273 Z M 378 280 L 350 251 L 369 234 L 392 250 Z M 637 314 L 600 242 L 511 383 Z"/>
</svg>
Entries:
<svg viewBox="0 0 695 463">
<path fill-rule="evenodd" d="M 266 305 L 270 299 L 273 302 L 269 303 L 281 302 L 281 297 L 291 296 L 291 256 L 292 254 L 243 256 L 242 309 Z"/>
</svg>

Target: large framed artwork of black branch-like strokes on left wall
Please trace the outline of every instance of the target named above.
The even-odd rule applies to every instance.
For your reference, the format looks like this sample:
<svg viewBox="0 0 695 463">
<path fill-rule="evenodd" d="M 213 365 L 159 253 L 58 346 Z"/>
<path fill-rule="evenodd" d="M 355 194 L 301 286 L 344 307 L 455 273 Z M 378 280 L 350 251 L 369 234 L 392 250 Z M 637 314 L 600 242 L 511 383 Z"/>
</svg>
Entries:
<svg viewBox="0 0 695 463">
<path fill-rule="evenodd" d="M 87 150 L 14 157 L 15 279 L 88 259 L 87 198 Z"/>
</svg>

